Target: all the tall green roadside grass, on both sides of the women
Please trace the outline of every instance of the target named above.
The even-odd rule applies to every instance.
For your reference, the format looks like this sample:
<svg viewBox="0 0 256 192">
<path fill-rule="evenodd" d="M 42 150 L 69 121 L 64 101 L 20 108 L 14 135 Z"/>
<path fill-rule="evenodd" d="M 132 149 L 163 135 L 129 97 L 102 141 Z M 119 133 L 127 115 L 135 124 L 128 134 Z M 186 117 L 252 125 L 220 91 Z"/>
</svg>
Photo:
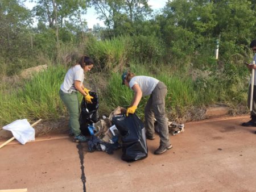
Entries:
<svg viewBox="0 0 256 192">
<path fill-rule="evenodd" d="M 136 43 L 136 41 L 131 41 L 130 38 L 118 37 L 104 41 L 92 39 L 85 45 L 85 54 L 93 57 L 96 62 L 92 73 L 97 72 L 97 80 L 94 84 L 100 87 L 97 89 L 100 98 L 99 111 L 104 115 L 109 115 L 117 106 L 125 108 L 130 106 L 134 95 L 133 90 L 123 86 L 121 81 L 121 73 L 128 69 L 136 75 L 155 77 L 167 85 L 166 110 L 168 115 L 174 114 L 174 116 L 182 117 L 190 110 L 190 107 L 207 107 L 216 103 L 224 103 L 233 108 L 238 105 L 246 106 L 249 72 L 242 64 L 242 59 L 238 58 L 238 60 L 236 57 L 230 62 L 222 61 L 223 63 L 218 64 L 212 60 L 212 57 L 207 57 L 207 53 L 203 55 L 197 53 L 199 55 L 194 57 L 188 55 L 179 60 L 170 57 L 170 61 L 166 63 L 160 62 L 158 57 L 148 61 L 132 54 L 135 53 L 133 51 L 136 44 L 130 43 Z M 143 42 L 145 44 L 141 44 L 141 47 L 144 50 L 147 47 L 146 38 Z M 69 52 L 69 49 L 64 47 L 63 55 L 66 52 Z M 204 62 L 204 68 L 197 68 L 197 70 L 200 72 L 206 70 L 206 74 L 209 75 L 192 77 L 191 71 L 196 67 L 191 62 L 194 62 L 196 67 Z M 3 126 L 22 118 L 51 120 L 67 115 L 59 98 L 60 85 L 67 70 L 63 65 L 50 63 L 46 71 L 36 74 L 30 80 L 19 82 L 18 89 L 16 86 L 6 87 L 4 83 L 1 83 L 0 125 Z M 103 83 L 100 81 L 101 77 L 104 77 Z M 86 83 L 90 83 L 87 81 Z M 80 101 L 81 98 L 79 94 Z M 148 97 L 143 97 L 137 109 L 141 118 L 144 115 L 147 99 Z"/>
</svg>

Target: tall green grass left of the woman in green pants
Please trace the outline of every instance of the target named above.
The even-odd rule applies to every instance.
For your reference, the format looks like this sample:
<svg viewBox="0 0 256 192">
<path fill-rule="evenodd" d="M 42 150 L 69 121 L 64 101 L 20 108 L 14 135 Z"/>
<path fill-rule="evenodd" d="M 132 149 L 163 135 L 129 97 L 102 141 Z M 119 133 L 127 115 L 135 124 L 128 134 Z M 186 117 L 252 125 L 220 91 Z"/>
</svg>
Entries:
<svg viewBox="0 0 256 192">
<path fill-rule="evenodd" d="M 23 118 L 57 119 L 63 115 L 65 108 L 59 97 L 59 89 L 65 73 L 63 66 L 49 66 L 46 71 L 25 81 L 22 87 L 1 94 L 0 124 Z"/>
</svg>

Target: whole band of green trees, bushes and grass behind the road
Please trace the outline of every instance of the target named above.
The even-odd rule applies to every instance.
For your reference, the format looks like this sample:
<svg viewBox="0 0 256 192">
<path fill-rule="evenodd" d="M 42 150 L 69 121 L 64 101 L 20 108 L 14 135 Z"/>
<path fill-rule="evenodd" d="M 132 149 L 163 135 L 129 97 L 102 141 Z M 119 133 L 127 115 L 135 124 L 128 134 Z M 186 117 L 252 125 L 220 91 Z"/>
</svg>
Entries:
<svg viewBox="0 0 256 192">
<path fill-rule="evenodd" d="M 0 2 L 1 126 L 15 119 L 67 115 L 59 88 L 71 53 L 96 62 L 86 84 L 97 88 L 100 115 L 130 105 L 133 91 L 121 85 L 123 70 L 158 78 L 168 86 L 168 118 L 185 119 L 195 108 L 212 105 L 229 106 L 233 114 L 248 112 L 240 106 L 246 106 L 250 72 L 243 62 L 252 58 L 248 45 L 256 36 L 255 1 L 174 0 L 154 15 L 144 0 L 35 2 L 33 10 L 19 0 Z M 105 28 L 86 29 L 81 15 L 89 6 L 96 7 Z M 38 26 L 32 27 L 35 17 Z M 21 70 L 43 64 L 47 70 L 16 79 Z M 138 107 L 142 118 L 146 101 L 143 98 Z"/>
</svg>

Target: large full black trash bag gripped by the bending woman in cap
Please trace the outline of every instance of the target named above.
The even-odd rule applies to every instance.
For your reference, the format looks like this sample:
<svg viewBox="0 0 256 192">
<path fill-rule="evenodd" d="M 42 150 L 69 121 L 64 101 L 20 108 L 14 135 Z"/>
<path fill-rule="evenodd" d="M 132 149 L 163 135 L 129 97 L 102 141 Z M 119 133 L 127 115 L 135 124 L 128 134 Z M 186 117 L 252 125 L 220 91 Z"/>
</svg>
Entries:
<svg viewBox="0 0 256 192">
<path fill-rule="evenodd" d="M 112 123 L 122 136 L 122 160 L 130 162 L 147 157 L 146 130 L 136 114 L 115 115 Z"/>
</svg>

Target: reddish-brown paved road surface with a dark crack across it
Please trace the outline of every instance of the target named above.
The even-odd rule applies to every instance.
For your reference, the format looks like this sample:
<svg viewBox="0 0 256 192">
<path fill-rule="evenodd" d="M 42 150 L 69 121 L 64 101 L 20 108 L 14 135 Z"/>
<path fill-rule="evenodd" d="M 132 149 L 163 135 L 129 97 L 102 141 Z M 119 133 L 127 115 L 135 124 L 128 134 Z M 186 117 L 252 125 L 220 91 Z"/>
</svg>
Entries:
<svg viewBox="0 0 256 192">
<path fill-rule="evenodd" d="M 114 155 L 88 153 L 86 144 L 65 136 L 6 145 L 0 149 L 0 189 L 256 191 L 256 127 L 240 126 L 246 120 L 248 116 L 187 123 L 184 133 L 171 136 L 173 149 L 154 155 L 156 136 L 147 140 L 148 157 L 129 163 L 121 160 L 121 149 Z"/>
</svg>

